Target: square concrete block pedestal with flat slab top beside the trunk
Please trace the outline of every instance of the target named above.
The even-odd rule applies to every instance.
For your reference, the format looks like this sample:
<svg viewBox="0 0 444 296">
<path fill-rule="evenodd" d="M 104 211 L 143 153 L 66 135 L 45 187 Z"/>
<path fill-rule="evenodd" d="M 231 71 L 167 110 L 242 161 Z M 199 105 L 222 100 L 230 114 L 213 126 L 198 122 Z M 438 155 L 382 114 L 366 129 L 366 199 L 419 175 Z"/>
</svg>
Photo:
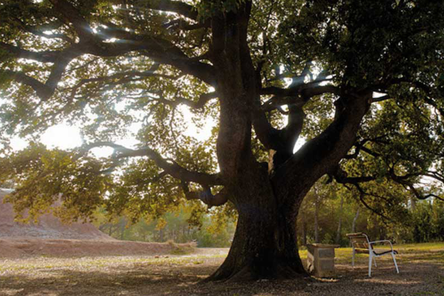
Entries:
<svg viewBox="0 0 444 296">
<path fill-rule="evenodd" d="M 334 276 L 334 248 L 339 245 L 308 244 L 308 272 L 317 277 Z"/>
</svg>

